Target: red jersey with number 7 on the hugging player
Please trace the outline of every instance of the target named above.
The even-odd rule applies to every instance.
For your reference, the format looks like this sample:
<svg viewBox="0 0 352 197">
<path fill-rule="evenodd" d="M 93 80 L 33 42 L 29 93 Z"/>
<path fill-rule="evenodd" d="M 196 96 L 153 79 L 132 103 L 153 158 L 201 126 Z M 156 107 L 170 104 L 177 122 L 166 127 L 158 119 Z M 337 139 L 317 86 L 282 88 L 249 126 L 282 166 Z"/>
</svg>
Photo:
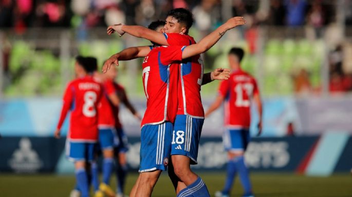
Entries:
<svg viewBox="0 0 352 197">
<path fill-rule="evenodd" d="M 175 121 L 178 68 L 171 63 L 181 59 L 180 46 L 156 47 L 144 58 L 142 76 L 147 101 L 141 126 Z"/>
</svg>

